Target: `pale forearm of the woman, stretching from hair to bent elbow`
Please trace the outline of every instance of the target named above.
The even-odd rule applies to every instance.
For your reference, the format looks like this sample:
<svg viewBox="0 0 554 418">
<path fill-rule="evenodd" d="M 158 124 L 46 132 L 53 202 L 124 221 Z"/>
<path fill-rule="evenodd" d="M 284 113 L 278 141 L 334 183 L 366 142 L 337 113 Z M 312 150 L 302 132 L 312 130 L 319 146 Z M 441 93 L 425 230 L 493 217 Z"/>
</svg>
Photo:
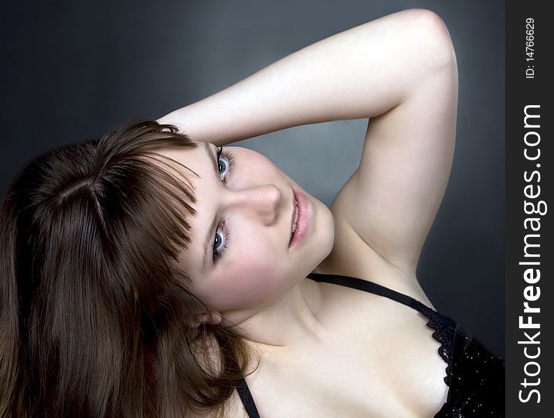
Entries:
<svg viewBox="0 0 554 418">
<path fill-rule="evenodd" d="M 309 45 L 160 118 L 216 145 L 284 129 L 383 114 L 453 56 L 447 29 L 412 9 Z"/>
</svg>

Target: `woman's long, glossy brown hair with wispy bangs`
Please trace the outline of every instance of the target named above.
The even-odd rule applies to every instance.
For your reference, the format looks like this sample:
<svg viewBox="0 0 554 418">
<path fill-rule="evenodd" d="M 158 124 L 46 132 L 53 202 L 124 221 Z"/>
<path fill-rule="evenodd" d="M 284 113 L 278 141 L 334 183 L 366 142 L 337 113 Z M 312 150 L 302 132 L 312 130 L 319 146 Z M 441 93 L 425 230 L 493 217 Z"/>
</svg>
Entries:
<svg viewBox="0 0 554 418">
<path fill-rule="evenodd" d="M 133 119 L 49 151 L 10 185 L 0 418 L 224 416 L 252 353 L 220 324 L 193 325 L 209 309 L 175 265 L 194 190 L 152 150 L 196 145 L 174 125 Z"/>
</svg>

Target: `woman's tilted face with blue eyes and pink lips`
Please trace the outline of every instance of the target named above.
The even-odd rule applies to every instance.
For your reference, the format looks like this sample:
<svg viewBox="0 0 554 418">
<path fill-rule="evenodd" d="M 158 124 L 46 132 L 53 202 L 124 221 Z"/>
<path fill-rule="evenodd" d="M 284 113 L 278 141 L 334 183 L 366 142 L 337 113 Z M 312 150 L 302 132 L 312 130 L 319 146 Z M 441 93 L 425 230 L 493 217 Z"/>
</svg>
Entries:
<svg viewBox="0 0 554 418">
<path fill-rule="evenodd" d="M 191 245 L 180 256 L 190 291 L 224 318 L 232 311 L 264 307 L 300 283 L 331 249 L 330 210 L 260 153 L 199 142 L 196 148 L 162 153 L 198 174 L 185 172 L 194 187 L 197 215 L 189 217 Z M 305 235 L 289 247 L 295 192 L 306 199 L 297 222 Z M 297 194 L 298 196 L 298 194 Z M 298 199 L 300 206 L 300 199 Z"/>
</svg>

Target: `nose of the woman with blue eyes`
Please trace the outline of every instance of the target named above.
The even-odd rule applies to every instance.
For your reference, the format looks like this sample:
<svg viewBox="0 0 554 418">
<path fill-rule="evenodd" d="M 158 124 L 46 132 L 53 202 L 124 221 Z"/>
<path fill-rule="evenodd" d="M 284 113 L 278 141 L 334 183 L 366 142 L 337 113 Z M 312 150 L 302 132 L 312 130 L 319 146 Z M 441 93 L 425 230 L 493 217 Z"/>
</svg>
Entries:
<svg viewBox="0 0 554 418">
<path fill-rule="evenodd" d="M 282 193 L 277 186 L 266 184 L 232 191 L 228 204 L 261 217 L 264 224 L 270 225 L 277 219 L 281 199 Z"/>
</svg>

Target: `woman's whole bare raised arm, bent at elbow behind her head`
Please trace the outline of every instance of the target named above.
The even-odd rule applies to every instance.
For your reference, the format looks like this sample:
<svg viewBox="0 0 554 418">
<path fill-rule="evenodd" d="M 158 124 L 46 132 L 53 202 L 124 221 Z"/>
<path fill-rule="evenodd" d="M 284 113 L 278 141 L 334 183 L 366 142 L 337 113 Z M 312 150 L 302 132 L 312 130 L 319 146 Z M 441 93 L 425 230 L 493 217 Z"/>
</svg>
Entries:
<svg viewBox="0 0 554 418">
<path fill-rule="evenodd" d="M 371 117 L 360 166 L 331 207 L 334 247 L 322 267 L 411 281 L 452 167 L 457 98 L 443 20 L 410 9 L 316 42 L 161 121 L 224 145 Z"/>
</svg>

